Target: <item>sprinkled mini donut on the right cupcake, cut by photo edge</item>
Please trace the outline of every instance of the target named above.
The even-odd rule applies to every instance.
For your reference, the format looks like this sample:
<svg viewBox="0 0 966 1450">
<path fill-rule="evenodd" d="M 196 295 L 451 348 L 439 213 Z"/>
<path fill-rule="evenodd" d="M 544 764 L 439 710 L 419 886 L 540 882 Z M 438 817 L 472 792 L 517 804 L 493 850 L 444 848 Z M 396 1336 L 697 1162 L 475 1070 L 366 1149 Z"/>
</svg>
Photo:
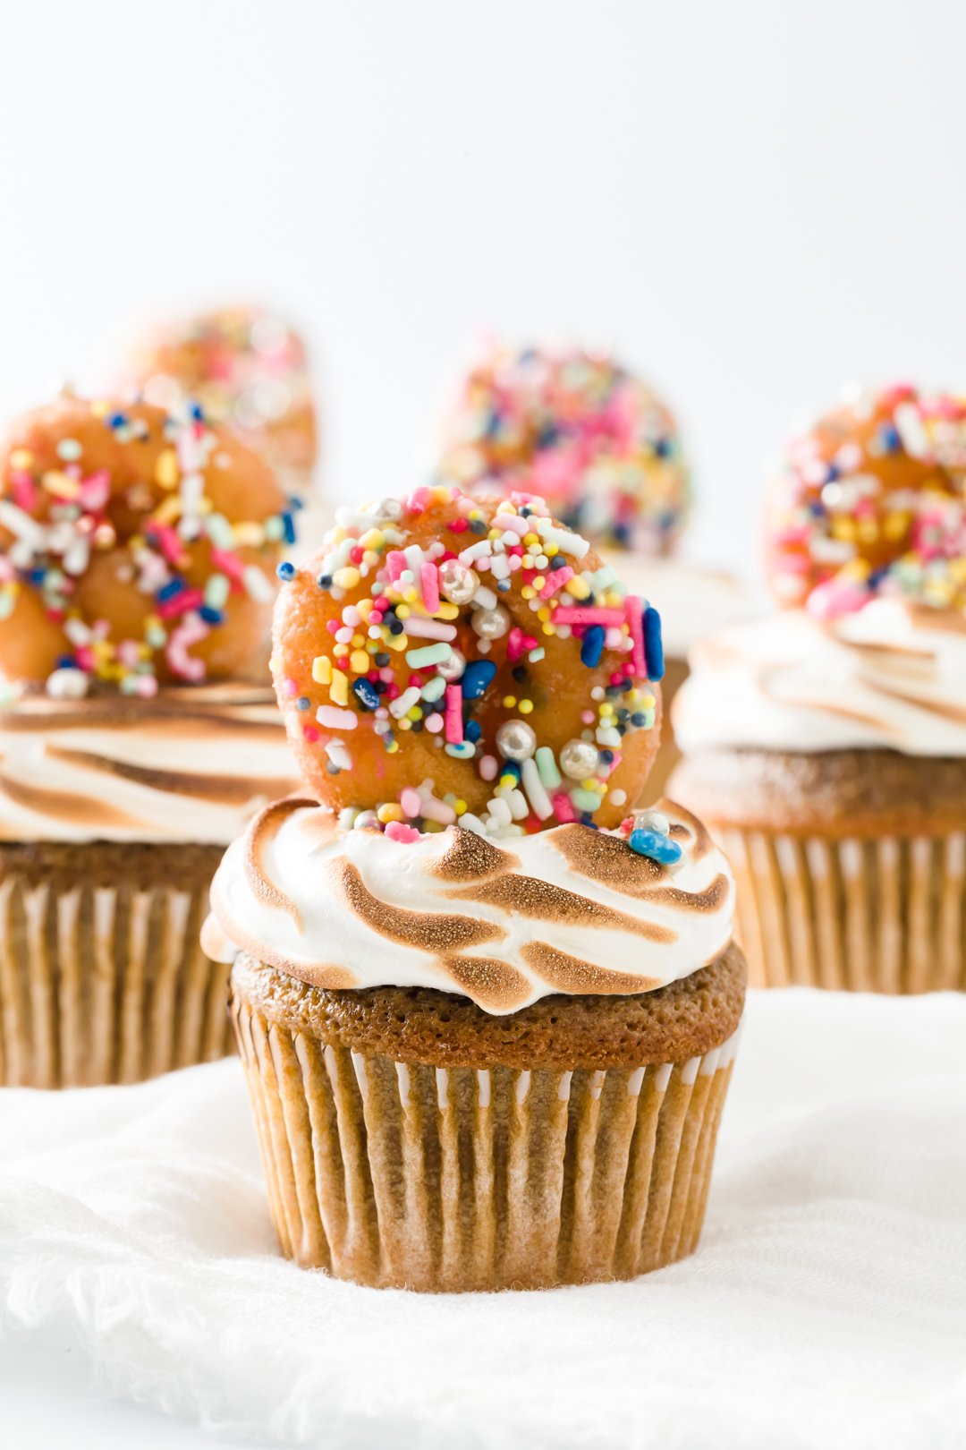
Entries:
<svg viewBox="0 0 966 1450">
<path fill-rule="evenodd" d="M 797 438 L 768 522 L 772 590 L 818 618 L 876 594 L 966 608 L 966 406 L 908 384 Z"/>
</svg>

